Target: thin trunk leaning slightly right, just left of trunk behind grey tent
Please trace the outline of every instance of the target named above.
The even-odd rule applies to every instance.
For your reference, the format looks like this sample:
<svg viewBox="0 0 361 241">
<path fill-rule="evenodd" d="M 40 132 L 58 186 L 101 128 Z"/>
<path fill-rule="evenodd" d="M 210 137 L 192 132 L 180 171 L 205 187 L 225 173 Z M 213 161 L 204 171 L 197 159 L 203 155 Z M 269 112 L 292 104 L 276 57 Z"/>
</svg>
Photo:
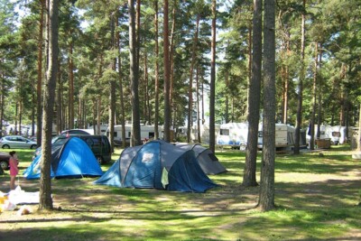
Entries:
<svg viewBox="0 0 361 241">
<path fill-rule="evenodd" d="M 200 14 L 197 14 L 196 32 L 194 33 L 193 46 L 192 46 L 192 57 L 190 60 L 190 86 L 188 89 L 188 124 L 187 124 L 187 141 L 191 142 L 191 124 L 192 124 L 192 113 L 193 113 L 193 70 L 197 56 L 197 44 L 198 44 L 198 31 L 199 31 L 199 20 Z"/>
</svg>

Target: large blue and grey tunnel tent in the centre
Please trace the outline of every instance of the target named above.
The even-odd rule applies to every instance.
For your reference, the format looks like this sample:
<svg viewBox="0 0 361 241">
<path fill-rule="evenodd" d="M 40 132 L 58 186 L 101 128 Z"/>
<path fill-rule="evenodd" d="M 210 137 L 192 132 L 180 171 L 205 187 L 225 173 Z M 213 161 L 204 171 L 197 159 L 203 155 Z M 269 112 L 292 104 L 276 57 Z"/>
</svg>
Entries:
<svg viewBox="0 0 361 241">
<path fill-rule="evenodd" d="M 128 147 L 95 184 L 204 192 L 217 186 L 202 171 L 192 150 L 160 140 Z"/>
</svg>

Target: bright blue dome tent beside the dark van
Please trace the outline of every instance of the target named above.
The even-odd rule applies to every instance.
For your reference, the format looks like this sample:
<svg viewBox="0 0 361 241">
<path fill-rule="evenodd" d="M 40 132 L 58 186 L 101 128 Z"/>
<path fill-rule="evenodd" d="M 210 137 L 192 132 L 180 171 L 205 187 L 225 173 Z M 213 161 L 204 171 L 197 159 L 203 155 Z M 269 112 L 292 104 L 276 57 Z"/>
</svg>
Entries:
<svg viewBox="0 0 361 241">
<path fill-rule="evenodd" d="M 38 179 L 42 155 L 38 155 L 23 172 L 26 179 Z M 51 146 L 51 178 L 98 177 L 103 174 L 94 153 L 78 137 L 69 138 L 62 145 Z"/>
</svg>

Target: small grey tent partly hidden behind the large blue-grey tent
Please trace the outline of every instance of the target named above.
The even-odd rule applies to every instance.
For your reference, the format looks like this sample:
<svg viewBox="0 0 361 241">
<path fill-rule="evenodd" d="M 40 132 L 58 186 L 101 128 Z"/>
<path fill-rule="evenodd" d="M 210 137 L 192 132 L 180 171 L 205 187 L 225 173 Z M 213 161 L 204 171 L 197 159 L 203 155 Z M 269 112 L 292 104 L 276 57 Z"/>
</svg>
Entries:
<svg viewBox="0 0 361 241">
<path fill-rule="evenodd" d="M 217 156 L 208 148 L 200 144 L 177 144 L 184 150 L 193 150 L 196 153 L 200 168 L 206 174 L 218 174 L 227 171 L 226 168 L 218 162 Z"/>
</svg>

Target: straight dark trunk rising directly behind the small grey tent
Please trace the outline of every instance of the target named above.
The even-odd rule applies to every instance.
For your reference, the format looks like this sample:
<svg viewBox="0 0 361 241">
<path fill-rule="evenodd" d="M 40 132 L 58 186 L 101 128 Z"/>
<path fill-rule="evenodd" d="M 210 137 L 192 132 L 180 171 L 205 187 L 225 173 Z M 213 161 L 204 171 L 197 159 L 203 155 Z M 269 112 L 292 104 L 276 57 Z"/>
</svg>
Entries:
<svg viewBox="0 0 361 241">
<path fill-rule="evenodd" d="M 216 30 L 217 0 L 212 0 L 212 29 L 210 45 L 210 86 L 209 86 L 209 150 L 216 152 Z M 202 101 L 204 96 L 202 95 Z M 202 108 L 204 109 L 204 108 Z M 203 118 L 204 119 L 204 118 Z"/>
</svg>

